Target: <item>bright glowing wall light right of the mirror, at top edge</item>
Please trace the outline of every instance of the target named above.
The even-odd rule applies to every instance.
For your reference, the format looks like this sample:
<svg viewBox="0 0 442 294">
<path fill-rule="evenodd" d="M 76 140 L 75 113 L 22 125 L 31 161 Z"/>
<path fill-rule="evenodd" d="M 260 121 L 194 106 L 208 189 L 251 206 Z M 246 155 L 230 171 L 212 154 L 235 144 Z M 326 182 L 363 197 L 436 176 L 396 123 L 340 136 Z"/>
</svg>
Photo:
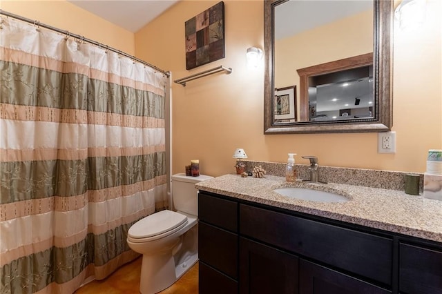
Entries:
<svg viewBox="0 0 442 294">
<path fill-rule="evenodd" d="M 398 5 L 394 10 L 394 16 L 402 30 L 408 26 L 418 26 L 425 21 L 425 2 L 426 0 L 403 0 Z"/>
</svg>

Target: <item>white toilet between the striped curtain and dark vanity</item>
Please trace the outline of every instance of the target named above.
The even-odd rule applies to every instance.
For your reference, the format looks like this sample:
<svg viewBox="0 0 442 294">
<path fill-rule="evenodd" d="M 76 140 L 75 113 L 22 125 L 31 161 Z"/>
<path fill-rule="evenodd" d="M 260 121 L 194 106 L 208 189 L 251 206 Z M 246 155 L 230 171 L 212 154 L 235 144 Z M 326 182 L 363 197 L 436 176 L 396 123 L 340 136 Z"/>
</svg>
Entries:
<svg viewBox="0 0 442 294">
<path fill-rule="evenodd" d="M 157 293 L 175 283 L 198 261 L 198 190 L 208 175 L 172 176 L 173 210 L 161 210 L 133 224 L 127 244 L 143 255 L 140 292 Z"/>
</svg>

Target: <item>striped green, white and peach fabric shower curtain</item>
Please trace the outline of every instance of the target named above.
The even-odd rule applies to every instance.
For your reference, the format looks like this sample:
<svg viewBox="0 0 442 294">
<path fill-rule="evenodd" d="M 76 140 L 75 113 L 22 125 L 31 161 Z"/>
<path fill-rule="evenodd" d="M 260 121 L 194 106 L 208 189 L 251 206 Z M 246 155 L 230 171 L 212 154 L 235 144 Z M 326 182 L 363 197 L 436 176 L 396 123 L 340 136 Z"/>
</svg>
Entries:
<svg viewBox="0 0 442 294">
<path fill-rule="evenodd" d="M 73 293 L 168 206 L 167 78 L 10 17 L 0 29 L 1 293 Z"/>
</svg>

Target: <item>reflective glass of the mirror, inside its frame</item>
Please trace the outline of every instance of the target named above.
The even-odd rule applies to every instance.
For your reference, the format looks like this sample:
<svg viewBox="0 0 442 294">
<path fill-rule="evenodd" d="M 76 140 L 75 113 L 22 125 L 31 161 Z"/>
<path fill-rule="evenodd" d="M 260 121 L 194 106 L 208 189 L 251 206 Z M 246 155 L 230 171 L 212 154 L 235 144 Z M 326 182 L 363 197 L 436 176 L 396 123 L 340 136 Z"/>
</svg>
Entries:
<svg viewBox="0 0 442 294">
<path fill-rule="evenodd" d="M 340 64 L 356 55 L 373 56 L 373 7 L 372 0 L 291 0 L 275 6 L 274 85 L 300 86 L 298 101 L 291 102 L 296 113 L 280 119 L 275 109 L 274 124 L 374 117 L 373 60 L 360 68 Z M 333 62 L 336 68 L 325 68 Z M 309 75 L 302 85 L 305 68 Z"/>
</svg>

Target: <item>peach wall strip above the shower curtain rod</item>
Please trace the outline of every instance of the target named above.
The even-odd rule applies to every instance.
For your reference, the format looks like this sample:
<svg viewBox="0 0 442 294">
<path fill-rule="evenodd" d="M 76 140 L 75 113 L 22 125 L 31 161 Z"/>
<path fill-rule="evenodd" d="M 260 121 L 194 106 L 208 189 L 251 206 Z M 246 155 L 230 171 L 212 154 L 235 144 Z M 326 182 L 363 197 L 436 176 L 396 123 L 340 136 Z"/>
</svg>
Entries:
<svg viewBox="0 0 442 294">
<path fill-rule="evenodd" d="M 133 32 L 115 26 L 67 1 L 1 0 L 0 8 L 135 55 Z"/>
</svg>

